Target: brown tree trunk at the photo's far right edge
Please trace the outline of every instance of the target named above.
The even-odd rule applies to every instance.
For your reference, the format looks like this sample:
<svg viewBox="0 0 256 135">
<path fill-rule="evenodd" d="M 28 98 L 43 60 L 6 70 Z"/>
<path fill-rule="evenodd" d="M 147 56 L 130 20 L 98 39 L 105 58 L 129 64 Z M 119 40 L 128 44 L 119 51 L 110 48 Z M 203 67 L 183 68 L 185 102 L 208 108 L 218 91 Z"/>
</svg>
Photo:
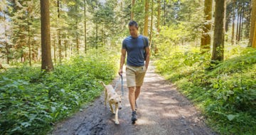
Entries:
<svg viewBox="0 0 256 135">
<path fill-rule="evenodd" d="M 250 16 L 250 38 L 248 46 L 252 46 L 252 40 L 254 39 L 255 33 L 255 21 L 256 21 L 256 0 L 251 1 L 252 4 L 252 16 Z"/>
</svg>

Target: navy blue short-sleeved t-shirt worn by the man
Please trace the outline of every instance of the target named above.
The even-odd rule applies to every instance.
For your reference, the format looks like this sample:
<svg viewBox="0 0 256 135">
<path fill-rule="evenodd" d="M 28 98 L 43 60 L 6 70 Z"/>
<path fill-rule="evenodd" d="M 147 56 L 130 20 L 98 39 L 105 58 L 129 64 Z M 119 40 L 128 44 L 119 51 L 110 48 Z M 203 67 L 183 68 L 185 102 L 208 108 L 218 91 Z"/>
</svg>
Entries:
<svg viewBox="0 0 256 135">
<path fill-rule="evenodd" d="M 146 43 L 144 46 L 143 38 Z M 149 39 L 139 35 L 137 38 L 128 36 L 122 42 L 122 48 L 127 50 L 127 65 L 139 67 L 144 65 L 144 48 L 149 46 Z"/>
</svg>

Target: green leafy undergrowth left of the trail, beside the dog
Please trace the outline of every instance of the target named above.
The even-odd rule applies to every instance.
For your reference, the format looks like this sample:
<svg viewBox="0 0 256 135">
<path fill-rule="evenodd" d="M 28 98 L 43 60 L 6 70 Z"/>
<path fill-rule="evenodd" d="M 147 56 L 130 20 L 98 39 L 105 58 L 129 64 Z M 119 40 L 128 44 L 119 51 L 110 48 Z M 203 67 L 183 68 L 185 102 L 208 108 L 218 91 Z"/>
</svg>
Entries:
<svg viewBox="0 0 256 135">
<path fill-rule="evenodd" d="M 1 134 L 47 134 L 53 122 L 101 94 L 98 80 L 110 82 L 117 61 L 117 55 L 101 52 L 65 60 L 48 74 L 28 67 L 1 73 Z"/>
</svg>

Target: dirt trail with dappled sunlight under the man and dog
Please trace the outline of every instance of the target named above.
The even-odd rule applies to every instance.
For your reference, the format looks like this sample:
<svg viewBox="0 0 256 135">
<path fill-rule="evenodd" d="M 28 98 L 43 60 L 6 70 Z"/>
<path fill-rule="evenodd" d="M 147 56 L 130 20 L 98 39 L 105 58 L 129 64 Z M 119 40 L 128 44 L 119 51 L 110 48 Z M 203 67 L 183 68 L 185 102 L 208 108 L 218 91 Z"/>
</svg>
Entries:
<svg viewBox="0 0 256 135">
<path fill-rule="evenodd" d="M 116 80 L 112 85 L 114 87 Z M 117 93 L 122 94 L 120 88 Z M 104 93 L 89 107 L 56 124 L 54 135 L 213 135 L 203 122 L 200 112 L 183 97 L 174 85 L 164 80 L 149 66 L 141 95 L 137 101 L 138 120 L 131 122 L 126 80 L 124 77 L 123 108 L 119 110 L 119 125 L 114 124 L 114 114 L 105 107 Z"/>
</svg>

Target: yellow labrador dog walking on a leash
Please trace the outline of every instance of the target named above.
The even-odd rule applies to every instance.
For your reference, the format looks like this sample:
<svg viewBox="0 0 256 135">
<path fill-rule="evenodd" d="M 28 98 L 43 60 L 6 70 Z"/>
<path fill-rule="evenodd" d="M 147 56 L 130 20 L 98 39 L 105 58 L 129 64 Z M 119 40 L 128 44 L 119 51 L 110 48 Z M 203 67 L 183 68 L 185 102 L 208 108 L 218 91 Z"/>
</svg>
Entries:
<svg viewBox="0 0 256 135">
<path fill-rule="evenodd" d="M 110 104 L 110 110 L 113 114 L 115 114 L 115 124 L 119 124 L 118 121 L 118 109 L 122 109 L 121 107 L 121 96 L 117 95 L 117 92 L 114 91 L 112 85 L 105 85 L 104 82 L 100 81 L 105 88 L 105 106 L 107 106 L 107 102 Z M 112 105 L 114 104 L 115 109 L 113 109 Z M 114 112 L 115 110 L 115 112 Z"/>
</svg>

